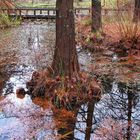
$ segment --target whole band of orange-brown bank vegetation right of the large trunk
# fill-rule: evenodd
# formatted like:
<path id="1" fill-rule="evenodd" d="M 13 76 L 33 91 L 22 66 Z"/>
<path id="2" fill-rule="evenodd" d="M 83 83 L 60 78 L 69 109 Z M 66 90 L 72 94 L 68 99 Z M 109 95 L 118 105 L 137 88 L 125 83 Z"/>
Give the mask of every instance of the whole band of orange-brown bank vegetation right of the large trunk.
<path id="1" fill-rule="evenodd" d="M 119 22 L 105 23 L 102 32 L 92 33 L 91 25 L 85 24 L 89 17 L 77 21 L 77 42 L 90 51 L 111 50 L 127 55 L 140 55 L 139 23 L 122 19 Z M 84 23 L 84 24 L 83 24 Z"/>

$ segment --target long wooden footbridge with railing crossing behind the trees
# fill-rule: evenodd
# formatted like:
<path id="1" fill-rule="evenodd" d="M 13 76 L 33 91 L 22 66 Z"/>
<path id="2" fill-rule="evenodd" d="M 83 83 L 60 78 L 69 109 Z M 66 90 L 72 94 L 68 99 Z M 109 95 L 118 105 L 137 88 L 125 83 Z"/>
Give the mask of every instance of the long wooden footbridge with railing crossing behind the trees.
<path id="1" fill-rule="evenodd" d="M 103 15 L 108 15 L 110 12 L 128 11 L 128 9 L 102 9 Z M 56 16 L 55 8 L 14 8 L 0 9 L 0 13 L 6 13 L 9 16 L 18 16 L 22 18 L 48 18 L 54 19 Z M 91 8 L 75 8 L 75 15 L 88 15 L 91 13 Z"/>

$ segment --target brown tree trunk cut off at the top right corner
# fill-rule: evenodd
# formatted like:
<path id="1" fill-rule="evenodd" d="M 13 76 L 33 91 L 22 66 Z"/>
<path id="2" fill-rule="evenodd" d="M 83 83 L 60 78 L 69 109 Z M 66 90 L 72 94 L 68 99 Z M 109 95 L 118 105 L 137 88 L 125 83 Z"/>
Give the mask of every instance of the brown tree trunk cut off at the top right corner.
<path id="1" fill-rule="evenodd" d="M 140 0 L 135 0 L 134 22 L 140 20 Z"/>

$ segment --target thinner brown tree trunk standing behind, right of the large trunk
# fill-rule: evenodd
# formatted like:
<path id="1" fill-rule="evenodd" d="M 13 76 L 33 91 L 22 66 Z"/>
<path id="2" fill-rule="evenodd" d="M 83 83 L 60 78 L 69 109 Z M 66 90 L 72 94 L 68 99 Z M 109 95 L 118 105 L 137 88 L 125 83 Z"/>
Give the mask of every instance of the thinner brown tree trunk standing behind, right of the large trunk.
<path id="1" fill-rule="evenodd" d="M 92 31 L 96 32 L 102 27 L 101 0 L 92 0 Z"/>

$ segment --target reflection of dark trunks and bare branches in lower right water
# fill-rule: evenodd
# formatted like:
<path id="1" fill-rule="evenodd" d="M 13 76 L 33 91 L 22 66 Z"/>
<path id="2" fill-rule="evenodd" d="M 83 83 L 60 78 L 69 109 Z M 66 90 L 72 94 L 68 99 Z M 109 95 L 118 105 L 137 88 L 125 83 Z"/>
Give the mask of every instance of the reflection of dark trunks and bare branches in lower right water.
<path id="1" fill-rule="evenodd" d="M 79 109 L 75 140 L 136 139 L 140 132 L 139 85 L 113 82 L 106 86 L 98 103 L 90 101 Z"/>

